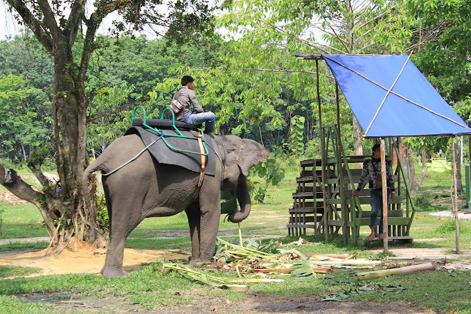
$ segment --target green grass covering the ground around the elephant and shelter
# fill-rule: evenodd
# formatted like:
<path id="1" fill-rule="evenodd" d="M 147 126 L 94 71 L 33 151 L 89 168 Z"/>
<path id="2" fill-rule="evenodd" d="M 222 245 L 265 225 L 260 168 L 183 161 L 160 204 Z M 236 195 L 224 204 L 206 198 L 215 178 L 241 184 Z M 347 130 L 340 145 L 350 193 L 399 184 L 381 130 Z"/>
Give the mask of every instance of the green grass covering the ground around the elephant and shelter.
<path id="1" fill-rule="evenodd" d="M 454 220 L 439 220 L 440 217 L 430 216 L 430 213 L 443 210 L 432 204 L 433 195 L 428 191 L 450 189 L 445 184 L 450 177 L 445 172 L 430 171 L 430 180 L 426 181 L 421 196 L 416 198 L 416 218 L 411 227 L 411 236 L 414 236 L 413 245 L 390 243 L 389 247 L 437 247 L 452 252 L 454 250 Z M 285 180 L 276 188 L 270 187 L 265 204 L 253 207 L 251 215 L 240 224 L 242 235 L 267 236 L 263 243 L 279 241 L 289 243 L 299 237 L 288 237 L 285 227 L 288 219 L 287 209 L 292 206 L 292 193 L 296 189 L 296 172 L 286 174 Z M 437 180 L 437 178 L 439 180 Z M 443 179 L 443 180 L 442 180 Z M 435 185 L 431 184 L 436 180 Z M 47 236 L 39 211 L 33 205 L 1 205 L 3 212 L 3 236 L 0 238 L 24 238 L 30 236 Z M 460 220 L 460 247 L 461 250 L 471 250 L 471 221 Z M 181 234 L 178 238 L 159 238 L 168 232 Z M 310 234 L 312 234 L 311 231 Z M 368 227 L 362 227 L 361 232 L 368 232 Z M 134 249 L 183 249 L 190 250 L 188 236 L 188 222 L 184 213 L 166 218 L 147 218 L 130 234 L 126 247 Z M 238 239 L 238 225 L 220 220 L 220 237 L 229 240 Z M 358 245 L 343 245 L 341 236 L 326 243 L 321 234 L 317 239 L 305 236 L 309 245 L 296 247 L 307 254 L 353 254 L 359 252 L 360 258 L 382 259 L 384 254 L 369 252 L 370 247 L 381 248 L 382 243 L 370 243 L 368 247 Z M 420 241 L 420 239 L 443 238 L 441 241 Z M 30 244 L 0 245 L 0 250 L 20 250 Z M 46 247 L 47 243 L 36 243 L 37 248 Z M 391 255 L 391 254 L 389 254 Z M 456 256 L 459 258 L 459 256 Z M 459 259 L 470 263 L 470 259 Z M 234 293 L 226 290 L 214 290 L 203 286 L 181 274 L 170 272 L 160 273 L 159 263 L 150 263 L 143 270 L 132 272 L 130 277 L 118 279 L 105 279 L 95 274 L 64 274 L 54 276 L 27 277 L 26 274 L 36 272 L 31 268 L 17 266 L 0 267 L 0 308 L 5 313 L 55 313 L 53 304 L 48 302 L 28 303 L 21 302 L 14 295 L 27 293 L 58 293 L 66 292 L 94 297 L 125 297 L 130 304 L 152 311 L 157 306 L 170 304 L 189 304 L 193 300 L 215 299 L 219 302 L 238 302 L 249 295 L 268 294 L 278 297 L 310 297 L 341 293 L 348 288 L 362 286 L 365 283 L 358 281 L 355 272 L 359 270 L 335 270 L 332 274 L 318 275 L 316 278 L 298 279 L 290 276 L 280 277 L 284 283 L 249 284 L 247 294 Z M 209 272 L 209 270 L 208 270 Z M 235 276 L 236 274 L 220 274 L 221 276 Z M 16 277 L 5 279 L 6 277 Z M 373 281 L 372 281 L 373 282 Z M 375 279 L 378 284 L 398 284 L 405 290 L 399 293 L 373 293 L 353 297 L 352 301 L 390 302 L 404 300 L 413 302 L 424 308 L 432 308 L 440 313 L 470 314 L 471 293 L 470 272 L 452 272 L 436 270 L 434 272 L 420 272 L 398 276 Z"/>

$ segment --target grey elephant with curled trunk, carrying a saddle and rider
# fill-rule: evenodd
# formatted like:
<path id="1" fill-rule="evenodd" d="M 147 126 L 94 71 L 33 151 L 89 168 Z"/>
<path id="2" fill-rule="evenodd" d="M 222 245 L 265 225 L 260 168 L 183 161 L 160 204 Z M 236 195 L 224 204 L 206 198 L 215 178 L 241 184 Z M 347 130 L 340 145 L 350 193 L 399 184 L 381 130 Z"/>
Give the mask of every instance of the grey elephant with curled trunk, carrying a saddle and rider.
<path id="1" fill-rule="evenodd" d="M 240 223 L 249 216 L 251 202 L 247 174 L 252 166 L 266 160 L 269 152 L 256 141 L 240 139 L 236 135 L 205 134 L 205 137 L 211 137 L 213 149 L 221 161 L 215 161 L 214 176 L 204 174 L 199 191 L 199 173 L 181 166 L 157 163 L 136 134 L 113 141 L 87 167 L 82 176 L 82 188 L 90 211 L 90 234 L 94 242 L 96 229 L 88 195 L 89 175 L 95 171 L 114 171 L 144 150 L 123 168 L 103 176 L 109 215 L 109 243 L 101 270 L 104 277 L 129 276 L 123 270 L 125 240 L 144 218 L 172 216 L 185 211 L 192 247 L 190 264 L 194 264 L 210 261 L 215 252 L 221 191 L 229 191 L 240 205 L 240 209 L 229 216 L 229 221 Z"/>

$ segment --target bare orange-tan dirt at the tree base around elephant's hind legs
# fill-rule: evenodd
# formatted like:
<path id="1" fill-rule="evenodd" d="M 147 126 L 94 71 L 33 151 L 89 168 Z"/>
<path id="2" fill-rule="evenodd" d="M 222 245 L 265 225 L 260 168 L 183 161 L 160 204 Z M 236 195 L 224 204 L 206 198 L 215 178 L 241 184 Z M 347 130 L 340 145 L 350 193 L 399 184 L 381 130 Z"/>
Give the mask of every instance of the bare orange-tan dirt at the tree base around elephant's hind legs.
<path id="1" fill-rule="evenodd" d="M 52 259 L 44 257 L 46 250 L 22 253 L 4 252 L 0 254 L 0 265 L 34 267 L 42 270 L 28 277 L 69 273 L 100 274 L 101 268 L 105 265 L 106 250 L 91 247 L 86 242 L 77 243 L 77 245 L 71 242 L 69 247 Z M 132 272 L 143 268 L 142 263 L 163 259 L 188 259 L 188 255 L 166 250 L 125 249 L 123 266 L 125 271 Z"/>

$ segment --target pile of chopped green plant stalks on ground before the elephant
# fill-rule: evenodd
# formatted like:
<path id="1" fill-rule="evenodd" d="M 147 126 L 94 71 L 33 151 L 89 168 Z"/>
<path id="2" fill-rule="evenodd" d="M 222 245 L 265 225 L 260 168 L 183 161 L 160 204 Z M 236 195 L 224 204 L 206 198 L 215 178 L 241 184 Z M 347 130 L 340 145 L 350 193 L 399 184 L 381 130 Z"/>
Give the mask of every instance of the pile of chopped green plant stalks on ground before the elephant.
<path id="1" fill-rule="evenodd" d="M 305 240 L 299 239 L 296 244 Z M 209 286 L 246 292 L 248 282 L 283 282 L 283 279 L 271 279 L 269 275 L 291 275 L 294 277 L 316 277 L 316 274 L 328 274 L 335 268 L 371 268 L 381 261 L 357 259 L 357 254 L 305 254 L 296 248 L 280 245 L 278 242 L 263 245 L 254 240 L 229 243 L 221 238 L 216 241 L 215 263 L 190 268 L 181 263 L 163 263 L 163 272 L 177 271 L 190 279 Z M 217 268 L 222 272 L 236 272 L 237 277 L 217 277 L 206 274 L 198 268 Z"/>

